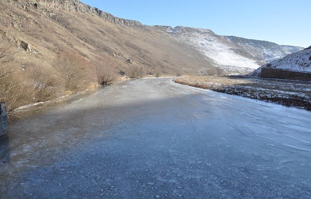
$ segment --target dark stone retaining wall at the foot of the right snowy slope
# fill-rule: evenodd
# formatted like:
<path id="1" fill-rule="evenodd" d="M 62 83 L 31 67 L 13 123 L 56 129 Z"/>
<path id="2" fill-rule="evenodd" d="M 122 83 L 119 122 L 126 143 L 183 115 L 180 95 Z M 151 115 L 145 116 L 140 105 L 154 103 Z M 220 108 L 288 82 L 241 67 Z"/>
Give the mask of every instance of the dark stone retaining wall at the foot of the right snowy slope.
<path id="1" fill-rule="evenodd" d="M 287 71 L 274 68 L 262 68 L 260 77 L 283 80 L 311 81 L 311 73 Z"/>

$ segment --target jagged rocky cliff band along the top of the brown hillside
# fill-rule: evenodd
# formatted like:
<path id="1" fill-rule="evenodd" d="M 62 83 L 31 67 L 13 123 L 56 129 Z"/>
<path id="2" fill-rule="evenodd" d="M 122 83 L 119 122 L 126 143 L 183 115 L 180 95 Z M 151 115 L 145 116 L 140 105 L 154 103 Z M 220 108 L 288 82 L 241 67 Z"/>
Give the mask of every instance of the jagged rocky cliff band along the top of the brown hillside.
<path id="1" fill-rule="evenodd" d="M 115 17 L 112 14 L 104 12 L 96 7 L 87 5 L 80 0 L 15 0 L 14 3 L 19 4 L 19 6 L 24 7 L 24 9 L 27 9 L 27 7 L 40 8 L 40 5 L 45 5 L 58 10 L 96 15 L 114 24 L 142 26 L 139 21 Z"/>

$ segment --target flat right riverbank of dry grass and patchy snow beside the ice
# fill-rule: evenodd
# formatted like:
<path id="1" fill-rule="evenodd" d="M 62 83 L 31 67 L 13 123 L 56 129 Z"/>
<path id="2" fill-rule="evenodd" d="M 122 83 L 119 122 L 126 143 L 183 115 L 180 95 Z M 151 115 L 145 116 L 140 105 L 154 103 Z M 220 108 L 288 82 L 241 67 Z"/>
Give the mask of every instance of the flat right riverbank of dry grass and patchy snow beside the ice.
<path id="1" fill-rule="evenodd" d="M 241 76 L 194 76 L 178 78 L 174 82 L 219 93 L 311 110 L 310 82 L 249 79 Z"/>

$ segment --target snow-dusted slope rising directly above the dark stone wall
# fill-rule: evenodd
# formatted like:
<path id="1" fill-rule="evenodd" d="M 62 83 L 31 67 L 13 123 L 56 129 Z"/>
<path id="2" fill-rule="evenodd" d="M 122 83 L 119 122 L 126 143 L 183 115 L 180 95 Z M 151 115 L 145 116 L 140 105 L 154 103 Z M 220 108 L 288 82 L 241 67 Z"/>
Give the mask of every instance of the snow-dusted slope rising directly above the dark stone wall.
<path id="1" fill-rule="evenodd" d="M 311 73 L 311 46 L 305 50 L 287 55 L 282 59 L 266 64 L 250 73 L 248 76 L 260 77 L 260 73 L 263 68 Z"/>

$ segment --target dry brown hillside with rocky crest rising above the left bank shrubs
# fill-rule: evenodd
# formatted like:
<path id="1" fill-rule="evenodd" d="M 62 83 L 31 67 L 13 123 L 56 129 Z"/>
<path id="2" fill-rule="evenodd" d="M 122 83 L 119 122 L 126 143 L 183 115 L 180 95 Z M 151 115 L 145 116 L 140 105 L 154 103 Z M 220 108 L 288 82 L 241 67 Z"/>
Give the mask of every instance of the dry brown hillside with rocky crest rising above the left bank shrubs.
<path id="1" fill-rule="evenodd" d="M 177 75 L 211 68 L 207 58 L 164 31 L 77 0 L 0 0 L 0 30 L 18 47 L 20 65 L 51 67 L 58 53 L 71 51 L 89 61 L 112 59 L 121 71 L 141 66 L 146 74 L 157 68 Z"/>

